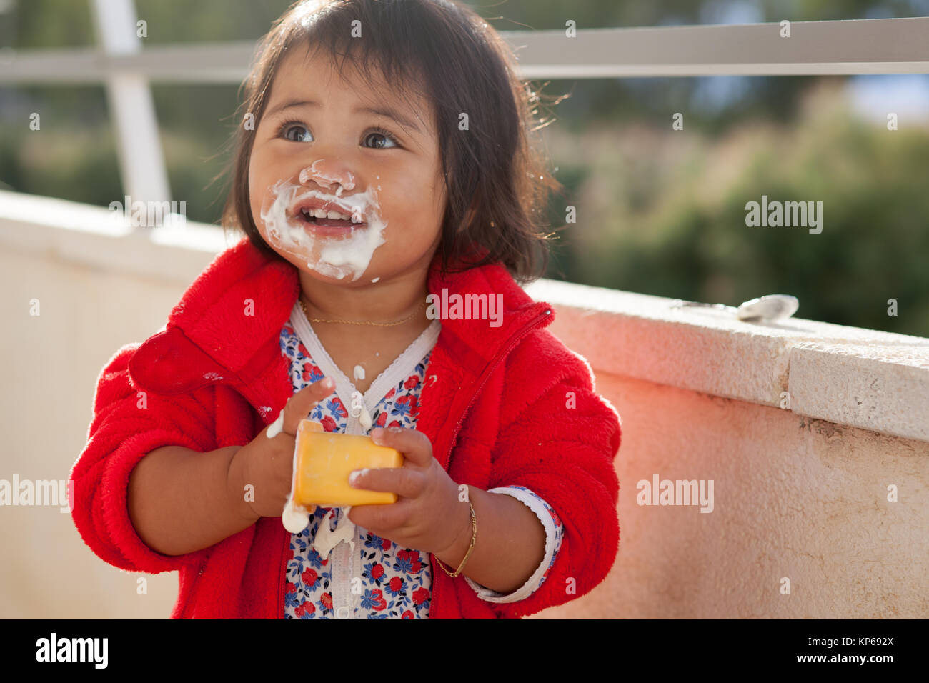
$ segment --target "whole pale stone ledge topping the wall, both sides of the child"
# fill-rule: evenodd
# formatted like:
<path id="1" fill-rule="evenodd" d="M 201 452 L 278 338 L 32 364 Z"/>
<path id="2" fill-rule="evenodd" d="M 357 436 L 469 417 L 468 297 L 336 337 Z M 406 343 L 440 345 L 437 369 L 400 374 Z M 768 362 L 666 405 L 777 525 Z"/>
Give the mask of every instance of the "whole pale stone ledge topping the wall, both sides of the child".
<path id="1" fill-rule="evenodd" d="M 186 287 L 230 243 L 217 226 L 130 228 L 103 207 L 0 191 L 0 244 Z M 556 307 L 552 331 L 597 373 L 929 441 L 929 339 L 798 318 L 741 322 L 731 309 L 570 282 L 526 291 Z"/>

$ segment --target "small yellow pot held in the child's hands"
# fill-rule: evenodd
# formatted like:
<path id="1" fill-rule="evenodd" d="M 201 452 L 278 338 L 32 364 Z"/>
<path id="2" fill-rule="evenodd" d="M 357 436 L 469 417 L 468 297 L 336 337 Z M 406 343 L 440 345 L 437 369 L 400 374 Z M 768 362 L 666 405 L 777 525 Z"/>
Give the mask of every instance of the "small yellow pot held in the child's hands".
<path id="1" fill-rule="evenodd" d="M 403 466 L 399 451 L 371 437 L 327 432 L 319 422 L 301 420 L 296 432 L 294 504 L 370 506 L 397 502 L 397 494 L 353 489 L 348 475 L 364 467 Z"/>

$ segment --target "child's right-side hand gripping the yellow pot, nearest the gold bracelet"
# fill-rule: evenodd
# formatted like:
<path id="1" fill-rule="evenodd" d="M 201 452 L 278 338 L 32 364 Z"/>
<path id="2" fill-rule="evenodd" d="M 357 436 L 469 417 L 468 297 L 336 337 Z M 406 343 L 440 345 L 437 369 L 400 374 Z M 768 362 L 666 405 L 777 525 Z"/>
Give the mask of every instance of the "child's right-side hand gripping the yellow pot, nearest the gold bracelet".
<path id="1" fill-rule="evenodd" d="M 458 500 L 458 484 L 433 457 L 423 432 L 378 427 L 371 437 L 377 445 L 402 453 L 403 466 L 355 470 L 348 484 L 399 498 L 389 505 L 352 506 L 348 519 L 401 547 L 441 554 L 462 532 L 464 519 L 470 519 L 470 508 Z"/>

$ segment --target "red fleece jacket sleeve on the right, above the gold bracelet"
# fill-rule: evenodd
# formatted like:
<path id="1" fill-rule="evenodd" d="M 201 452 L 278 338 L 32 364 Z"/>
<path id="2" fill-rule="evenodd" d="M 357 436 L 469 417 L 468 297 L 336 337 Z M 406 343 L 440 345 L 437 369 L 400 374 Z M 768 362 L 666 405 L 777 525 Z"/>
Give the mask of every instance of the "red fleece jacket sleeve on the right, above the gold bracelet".
<path id="1" fill-rule="evenodd" d="M 620 542 L 613 464 L 620 416 L 595 392 L 587 361 L 555 337 L 541 336 L 547 343 L 520 354 L 507 372 L 491 487 L 530 489 L 555 510 L 564 532 L 544 583 L 528 598 L 494 605 L 504 618 L 588 593 L 606 578 Z"/>

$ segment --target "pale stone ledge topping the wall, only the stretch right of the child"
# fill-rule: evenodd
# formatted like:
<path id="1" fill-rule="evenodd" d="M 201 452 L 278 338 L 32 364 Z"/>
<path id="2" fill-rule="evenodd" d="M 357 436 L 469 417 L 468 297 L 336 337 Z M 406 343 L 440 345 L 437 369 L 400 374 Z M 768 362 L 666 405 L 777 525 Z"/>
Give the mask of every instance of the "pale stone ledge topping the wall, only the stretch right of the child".
<path id="1" fill-rule="evenodd" d="M 731 310 L 570 282 L 526 291 L 556 307 L 553 333 L 595 370 L 929 441 L 929 339 L 799 318 L 742 322 Z"/>

